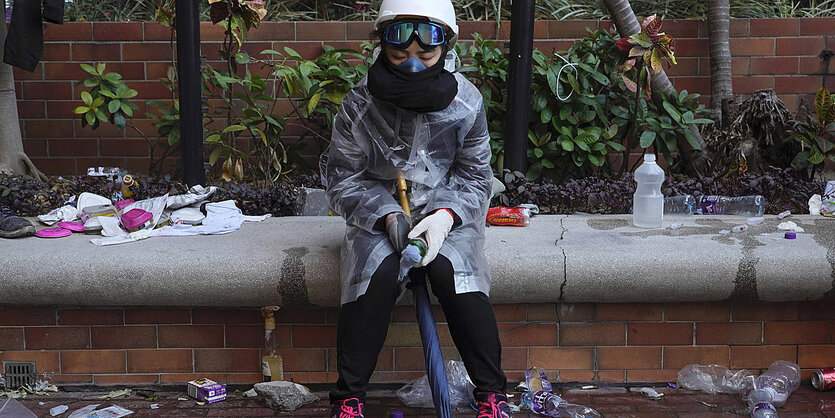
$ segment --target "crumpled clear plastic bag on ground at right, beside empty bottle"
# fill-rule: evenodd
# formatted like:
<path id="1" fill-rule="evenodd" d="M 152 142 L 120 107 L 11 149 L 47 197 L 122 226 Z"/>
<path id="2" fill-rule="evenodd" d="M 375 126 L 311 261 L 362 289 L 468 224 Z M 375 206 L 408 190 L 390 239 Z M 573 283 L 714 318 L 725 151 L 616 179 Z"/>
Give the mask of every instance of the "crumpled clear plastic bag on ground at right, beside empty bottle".
<path id="1" fill-rule="evenodd" d="M 748 370 L 732 372 L 718 364 L 690 364 L 678 372 L 678 387 L 707 393 L 747 395 L 754 387 L 754 375 Z"/>

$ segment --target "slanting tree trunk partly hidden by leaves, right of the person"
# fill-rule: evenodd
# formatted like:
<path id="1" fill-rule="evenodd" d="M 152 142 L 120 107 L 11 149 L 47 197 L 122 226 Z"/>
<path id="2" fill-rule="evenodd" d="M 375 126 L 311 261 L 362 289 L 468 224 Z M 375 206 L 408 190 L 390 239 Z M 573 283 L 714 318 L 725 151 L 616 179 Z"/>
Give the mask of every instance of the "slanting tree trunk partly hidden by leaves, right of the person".
<path id="1" fill-rule="evenodd" d="M 629 0 L 603 0 L 603 2 L 606 4 L 606 8 L 609 10 L 609 15 L 612 17 L 612 22 L 614 22 L 615 28 L 618 30 L 618 34 L 620 34 L 621 37 L 626 38 L 641 31 L 641 24 L 638 23 L 638 18 L 635 17 L 635 12 L 632 11 L 632 6 L 629 4 Z M 651 88 L 652 101 L 658 109 L 664 108 L 664 98 L 661 96 L 662 93 L 666 93 L 668 95 L 675 93 L 675 88 L 673 88 L 673 84 L 670 82 L 670 79 L 667 78 L 667 73 L 665 73 L 664 70 L 661 70 L 660 73 L 652 76 Z M 701 149 L 704 149 L 705 142 L 704 139 L 702 139 L 702 135 L 699 133 L 698 129 L 692 129 L 696 142 L 698 142 Z M 702 173 L 707 170 L 707 158 L 701 149 L 693 149 L 690 146 L 690 143 L 687 142 L 684 135 L 677 136 L 676 144 L 681 157 L 686 162 L 686 165 L 684 166 L 685 169 L 689 171 L 690 175 L 701 177 Z"/>

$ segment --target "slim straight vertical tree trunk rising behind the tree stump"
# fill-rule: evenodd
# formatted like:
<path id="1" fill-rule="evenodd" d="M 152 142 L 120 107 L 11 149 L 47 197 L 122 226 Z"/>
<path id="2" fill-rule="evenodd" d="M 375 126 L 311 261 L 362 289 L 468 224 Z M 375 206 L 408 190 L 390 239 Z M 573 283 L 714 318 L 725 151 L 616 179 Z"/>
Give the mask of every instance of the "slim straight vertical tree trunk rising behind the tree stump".
<path id="1" fill-rule="evenodd" d="M 728 0 L 710 0 L 707 11 L 708 39 L 710 41 L 710 107 L 714 120 L 724 120 L 722 101 L 733 98 L 731 84 L 731 49 L 728 44 L 728 28 L 731 25 Z"/>

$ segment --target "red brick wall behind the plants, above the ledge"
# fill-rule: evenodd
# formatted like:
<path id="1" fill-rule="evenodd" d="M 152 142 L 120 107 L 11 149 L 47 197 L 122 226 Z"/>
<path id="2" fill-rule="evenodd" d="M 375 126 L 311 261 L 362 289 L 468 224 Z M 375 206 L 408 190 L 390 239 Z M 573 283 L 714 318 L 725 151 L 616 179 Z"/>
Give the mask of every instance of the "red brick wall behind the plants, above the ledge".
<path id="1" fill-rule="evenodd" d="M 586 27 L 609 28 L 609 21 L 537 21 L 535 41 L 543 50 L 565 50 L 586 35 Z M 813 94 L 826 83 L 835 90 L 835 64 L 822 67 L 818 55 L 835 50 L 835 18 L 735 19 L 731 23 L 734 92 L 750 94 L 774 88 L 794 110 L 798 100 Z M 507 39 L 510 24 L 503 22 L 462 22 L 461 39 L 471 40 L 478 32 L 487 38 Z M 668 71 L 678 89 L 710 93 L 710 65 L 707 25 L 697 20 L 665 21 L 664 30 L 676 39 L 679 65 Z M 290 46 L 306 58 L 321 51 L 322 43 L 335 47 L 356 47 L 368 40 L 370 22 L 268 22 L 253 30 L 246 50 L 282 50 Z M 144 116 L 145 100 L 170 100 L 168 91 L 156 80 L 164 77 L 173 51 L 170 31 L 156 23 L 68 23 L 46 25 L 43 61 L 34 73 L 15 69 L 18 110 L 24 148 L 39 168 L 49 174 L 86 172 L 94 165 L 115 165 L 143 173 L 148 170 L 148 144 L 133 132 L 112 126 L 92 131 L 82 128 L 72 109 L 79 104 L 81 87 L 74 82 L 87 75 L 80 63 L 106 62 L 139 91 L 142 105 L 137 125 L 154 133 Z M 219 64 L 217 50 L 222 30 L 201 24 L 202 53 L 210 63 Z M 825 80 L 825 81 L 824 81 Z M 709 101 L 705 101 L 709 103 Z M 286 103 L 285 103 L 286 104 Z M 287 110 L 287 106 L 283 106 Z M 288 135 L 298 134 L 292 128 Z"/>

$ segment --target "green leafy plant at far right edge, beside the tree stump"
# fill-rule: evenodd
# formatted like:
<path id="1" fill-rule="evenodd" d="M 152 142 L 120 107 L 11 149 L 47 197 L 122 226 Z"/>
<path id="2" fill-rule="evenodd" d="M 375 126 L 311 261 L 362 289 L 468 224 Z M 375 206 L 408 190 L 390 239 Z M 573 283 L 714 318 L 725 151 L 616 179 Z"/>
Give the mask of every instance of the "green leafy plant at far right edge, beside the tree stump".
<path id="1" fill-rule="evenodd" d="M 814 106 L 813 113 L 804 103 L 795 128 L 788 131 L 802 147 L 792 166 L 805 170 L 811 165 L 813 172 L 824 159 L 835 161 L 835 96 L 821 87 L 815 94 Z"/>

